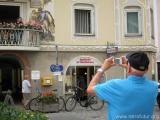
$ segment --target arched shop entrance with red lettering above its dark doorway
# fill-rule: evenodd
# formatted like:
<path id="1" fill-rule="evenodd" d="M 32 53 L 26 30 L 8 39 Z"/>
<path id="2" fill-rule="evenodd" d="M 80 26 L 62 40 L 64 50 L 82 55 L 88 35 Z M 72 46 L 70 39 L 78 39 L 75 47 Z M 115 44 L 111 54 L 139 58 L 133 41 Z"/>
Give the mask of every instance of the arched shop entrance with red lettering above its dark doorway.
<path id="1" fill-rule="evenodd" d="M 86 90 L 100 65 L 100 61 L 91 56 L 78 56 L 74 58 L 66 70 L 63 82 L 65 94 L 73 94 L 75 86 Z"/>

